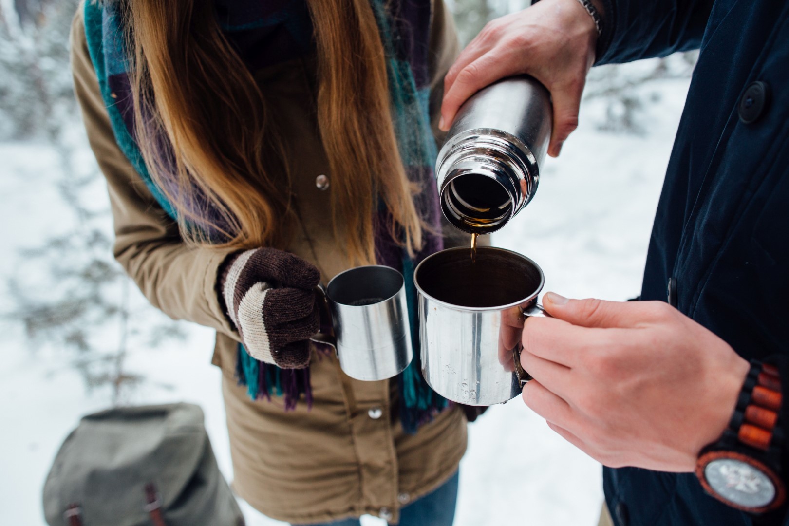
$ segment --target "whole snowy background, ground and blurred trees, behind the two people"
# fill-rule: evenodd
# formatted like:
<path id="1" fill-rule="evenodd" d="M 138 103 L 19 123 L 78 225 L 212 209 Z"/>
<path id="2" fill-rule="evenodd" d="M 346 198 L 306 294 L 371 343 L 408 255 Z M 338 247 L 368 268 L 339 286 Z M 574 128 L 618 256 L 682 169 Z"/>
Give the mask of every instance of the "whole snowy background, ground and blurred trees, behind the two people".
<path id="1" fill-rule="evenodd" d="M 464 39 L 518 2 L 454 2 Z M 73 2 L 0 0 L 0 520 L 43 526 L 40 493 L 81 415 L 189 401 L 232 479 L 211 330 L 148 307 L 110 257 L 110 217 L 70 91 Z M 535 259 L 567 297 L 638 295 L 694 57 L 593 70 L 581 125 L 544 163 L 495 245 Z M 593 526 L 600 464 L 518 398 L 469 427 L 458 526 Z M 282 524 L 244 507 L 248 524 Z M 365 526 L 383 524 L 372 517 Z"/>

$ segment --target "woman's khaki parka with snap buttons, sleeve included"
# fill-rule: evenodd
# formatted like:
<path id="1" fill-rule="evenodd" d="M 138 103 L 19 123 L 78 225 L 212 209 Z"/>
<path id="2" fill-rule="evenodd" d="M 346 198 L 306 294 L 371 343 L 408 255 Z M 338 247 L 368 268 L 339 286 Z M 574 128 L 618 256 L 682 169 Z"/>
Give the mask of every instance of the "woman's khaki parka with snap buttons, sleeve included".
<path id="1" fill-rule="evenodd" d="M 231 251 L 185 244 L 178 226 L 118 148 L 88 54 L 82 10 L 73 22 L 73 75 L 88 138 L 107 178 L 114 256 L 156 308 L 217 331 L 212 363 L 223 373 L 235 491 L 268 517 L 288 522 L 364 513 L 398 520 L 402 505 L 432 491 L 458 469 L 466 450 L 462 411 L 447 409 L 417 435 L 406 435 L 398 422 L 396 382 L 351 379 L 335 358 L 314 352 L 312 410 L 301 403 L 285 412 L 276 397 L 249 400 L 234 378 L 239 336 L 216 293 L 217 269 Z M 457 53 L 451 14 L 435 0 L 430 62 L 434 129 L 443 76 Z M 314 69 L 314 58 L 301 58 L 253 76 L 274 102 L 286 147 L 300 154 L 289 157 L 300 225 L 288 250 L 315 264 L 325 284 L 351 264 L 327 221 L 332 174 L 316 122 Z M 322 174 L 330 183 L 326 189 L 316 185 Z"/>

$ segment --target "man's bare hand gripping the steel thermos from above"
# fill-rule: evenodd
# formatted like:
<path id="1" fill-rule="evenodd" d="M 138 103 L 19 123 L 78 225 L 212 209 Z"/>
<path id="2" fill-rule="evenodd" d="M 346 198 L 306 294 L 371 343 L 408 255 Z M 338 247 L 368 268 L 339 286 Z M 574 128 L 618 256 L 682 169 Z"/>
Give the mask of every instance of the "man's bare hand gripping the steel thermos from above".
<path id="1" fill-rule="evenodd" d="M 528 73 L 553 99 L 548 155 L 556 157 L 578 126 L 586 73 L 594 63 L 597 32 L 578 0 L 542 0 L 489 22 L 444 78 L 439 128 L 449 129 L 471 95 L 506 76 Z"/>

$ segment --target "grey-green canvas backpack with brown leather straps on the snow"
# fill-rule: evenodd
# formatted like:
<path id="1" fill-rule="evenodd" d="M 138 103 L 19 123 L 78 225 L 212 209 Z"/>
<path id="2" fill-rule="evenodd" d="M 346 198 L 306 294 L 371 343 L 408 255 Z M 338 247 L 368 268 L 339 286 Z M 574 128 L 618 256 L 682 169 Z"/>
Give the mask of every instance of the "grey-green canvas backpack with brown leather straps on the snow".
<path id="1" fill-rule="evenodd" d="M 84 416 L 43 489 L 50 526 L 243 526 L 202 410 L 191 404 Z"/>

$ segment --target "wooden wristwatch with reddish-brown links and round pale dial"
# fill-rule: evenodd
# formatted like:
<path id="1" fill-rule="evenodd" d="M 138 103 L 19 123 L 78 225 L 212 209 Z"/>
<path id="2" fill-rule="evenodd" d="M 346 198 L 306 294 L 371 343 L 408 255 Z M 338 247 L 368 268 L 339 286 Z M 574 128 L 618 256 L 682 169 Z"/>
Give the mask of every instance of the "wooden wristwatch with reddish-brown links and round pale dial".
<path id="1" fill-rule="evenodd" d="M 765 513 L 783 504 L 783 433 L 776 425 L 780 405 L 778 369 L 751 360 L 726 431 L 701 450 L 696 461 L 696 476 L 712 497 L 750 513 Z"/>

